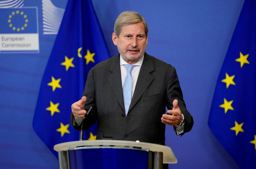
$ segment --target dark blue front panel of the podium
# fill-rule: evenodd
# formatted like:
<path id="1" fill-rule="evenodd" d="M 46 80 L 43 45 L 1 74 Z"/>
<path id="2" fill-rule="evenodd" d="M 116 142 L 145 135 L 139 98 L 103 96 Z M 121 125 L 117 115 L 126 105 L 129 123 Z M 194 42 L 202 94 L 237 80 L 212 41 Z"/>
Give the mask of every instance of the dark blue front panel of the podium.
<path id="1" fill-rule="evenodd" d="M 94 148 L 69 150 L 70 169 L 148 169 L 149 152 L 144 150 Z"/>

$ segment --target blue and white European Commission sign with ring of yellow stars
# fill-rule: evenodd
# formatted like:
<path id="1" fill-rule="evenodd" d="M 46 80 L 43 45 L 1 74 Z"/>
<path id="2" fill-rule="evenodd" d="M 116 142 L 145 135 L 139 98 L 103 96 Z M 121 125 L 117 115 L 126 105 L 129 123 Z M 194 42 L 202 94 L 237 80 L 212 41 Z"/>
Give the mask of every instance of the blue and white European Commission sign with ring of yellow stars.
<path id="1" fill-rule="evenodd" d="M 0 12 L 0 53 L 39 52 L 37 8 L 0 8 Z"/>

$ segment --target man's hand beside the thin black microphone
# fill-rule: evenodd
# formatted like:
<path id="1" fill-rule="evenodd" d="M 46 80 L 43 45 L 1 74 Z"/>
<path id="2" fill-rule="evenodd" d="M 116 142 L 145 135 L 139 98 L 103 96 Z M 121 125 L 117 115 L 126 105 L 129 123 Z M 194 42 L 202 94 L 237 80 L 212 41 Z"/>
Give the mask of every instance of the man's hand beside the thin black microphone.
<path id="1" fill-rule="evenodd" d="M 78 119 L 84 119 L 87 111 L 84 110 L 84 103 L 86 102 L 86 97 L 83 96 L 81 100 L 73 103 L 71 105 L 71 110 L 73 115 Z"/>

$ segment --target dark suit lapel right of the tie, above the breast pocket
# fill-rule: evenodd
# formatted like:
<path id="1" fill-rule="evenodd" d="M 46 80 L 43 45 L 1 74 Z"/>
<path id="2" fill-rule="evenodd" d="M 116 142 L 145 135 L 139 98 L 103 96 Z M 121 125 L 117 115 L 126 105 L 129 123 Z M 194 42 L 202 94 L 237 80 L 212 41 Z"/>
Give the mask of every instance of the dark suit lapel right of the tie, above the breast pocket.
<path id="1" fill-rule="evenodd" d="M 154 70 L 154 65 L 152 63 L 152 60 L 150 59 L 150 56 L 147 53 L 145 53 L 144 60 L 140 68 L 139 77 L 136 83 L 136 87 L 132 96 L 129 111 L 138 102 L 142 94 L 148 88 L 149 84 L 153 81 L 154 78 L 149 73 Z"/>

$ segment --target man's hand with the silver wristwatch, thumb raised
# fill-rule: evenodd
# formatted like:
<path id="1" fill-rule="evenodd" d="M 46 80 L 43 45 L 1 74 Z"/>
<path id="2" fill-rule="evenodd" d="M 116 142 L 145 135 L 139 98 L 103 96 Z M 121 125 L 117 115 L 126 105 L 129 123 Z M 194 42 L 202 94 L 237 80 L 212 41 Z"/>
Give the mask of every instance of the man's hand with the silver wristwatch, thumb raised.
<path id="1" fill-rule="evenodd" d="M 167 113 L 172 114 L 163 114 L 161 120 L 162 123 L 168 124 L 171 126 L 179 125 L 181 120 L 183 119 L 180 108 L 178 106 L 178 100 L 173 100 L 172 102 L 173 108 L 172 110 L 168 110 Z"/>

